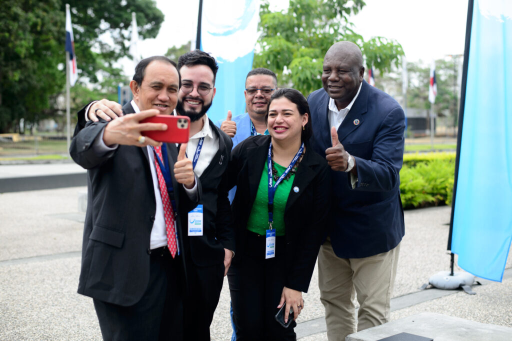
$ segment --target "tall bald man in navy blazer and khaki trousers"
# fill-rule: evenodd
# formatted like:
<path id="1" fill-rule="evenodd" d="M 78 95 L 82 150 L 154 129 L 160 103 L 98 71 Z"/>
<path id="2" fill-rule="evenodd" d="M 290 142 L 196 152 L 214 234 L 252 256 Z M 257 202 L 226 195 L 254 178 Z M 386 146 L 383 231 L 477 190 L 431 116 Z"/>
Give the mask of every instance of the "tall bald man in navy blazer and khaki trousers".
<path id="1" fill-rule="evenodd" d="M 363 79 L 362 62 L 355 44 L 337 42 L 324 58 L 323 89 L 308 97 L 314 148 L 332 174 L 331 223 L 318 255 L 329 340 L 388 322 L 404 235 L 404 113 Z"/>

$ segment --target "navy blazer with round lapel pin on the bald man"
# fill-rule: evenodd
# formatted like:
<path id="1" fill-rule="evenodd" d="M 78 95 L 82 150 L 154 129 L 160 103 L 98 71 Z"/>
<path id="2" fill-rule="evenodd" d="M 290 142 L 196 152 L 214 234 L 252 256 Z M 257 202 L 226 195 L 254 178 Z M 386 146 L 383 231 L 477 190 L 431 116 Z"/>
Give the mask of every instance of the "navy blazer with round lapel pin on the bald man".
<path id="1" fill-rule="evenodd" d="M 332 147 L 329 95 L 324 89 L 308 97 L 314 149 L 325 156 Z M 355 159 L 357 183 L 332 175 L 333 203 L 329 236 L 340 258 L 363 258 L 386 252 L 404 235 L 400 200 L 405 115 L 388 94 L 362 82 L 361 90 L 338 129 L 338 139 Z"/>

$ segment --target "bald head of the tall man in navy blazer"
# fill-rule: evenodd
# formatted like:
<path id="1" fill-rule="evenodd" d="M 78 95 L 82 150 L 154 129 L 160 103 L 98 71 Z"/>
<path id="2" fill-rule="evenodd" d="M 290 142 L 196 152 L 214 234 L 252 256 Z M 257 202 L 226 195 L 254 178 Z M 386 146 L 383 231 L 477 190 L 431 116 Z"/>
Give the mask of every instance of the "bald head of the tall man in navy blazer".
<path id="1" fill-rule="evenodd" d="M 362 53 L 350 41 L 338 41 L 324 57 L 322 84 L 338 109 L 344 109 L 357 94 L 365 68 Z"/>

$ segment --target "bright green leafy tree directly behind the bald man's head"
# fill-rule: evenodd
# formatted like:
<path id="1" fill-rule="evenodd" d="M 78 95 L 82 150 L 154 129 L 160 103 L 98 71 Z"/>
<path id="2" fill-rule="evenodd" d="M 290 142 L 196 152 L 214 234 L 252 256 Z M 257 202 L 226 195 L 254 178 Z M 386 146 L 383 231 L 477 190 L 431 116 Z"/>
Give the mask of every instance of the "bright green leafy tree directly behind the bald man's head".
<path id="1" fill-rule="evenodd" d="M 389 70 L 398 65 L 401 46 L 383 37 L 364 41 L 348 21 L 364 6 L 362 0 L 290 0 L 286 12 L 271 12 L 265 1 L 260 9 L 260 52 L 254 55 L 253 67 L 274 71 L 282 85 L 307 95 L 322 87 L 320 75 L 329 47 L 350 40 L 361 48 L 367 65 Z"/>

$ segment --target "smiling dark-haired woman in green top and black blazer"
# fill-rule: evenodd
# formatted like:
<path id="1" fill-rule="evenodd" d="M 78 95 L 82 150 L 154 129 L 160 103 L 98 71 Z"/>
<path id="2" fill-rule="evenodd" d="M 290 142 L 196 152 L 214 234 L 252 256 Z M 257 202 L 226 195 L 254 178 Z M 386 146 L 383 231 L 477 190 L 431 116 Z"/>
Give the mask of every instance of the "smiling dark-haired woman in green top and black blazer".
<path id="1" fill-rule="evenodd" d="M 313 152 L 309 106 L 294 89 L 277 90 L 268 104 L 268 136 L 238 144 L 229 163 L 237 185 L 232 211 L 237 255 L 228 271 L 237 339 L 296 339 L 294 320 L 304 308 L 325 236 L 329 167 Z M 285 328 L 274 315 L 285 306 Z M 285 323 L 285 321 L 280 321 Z"/>

